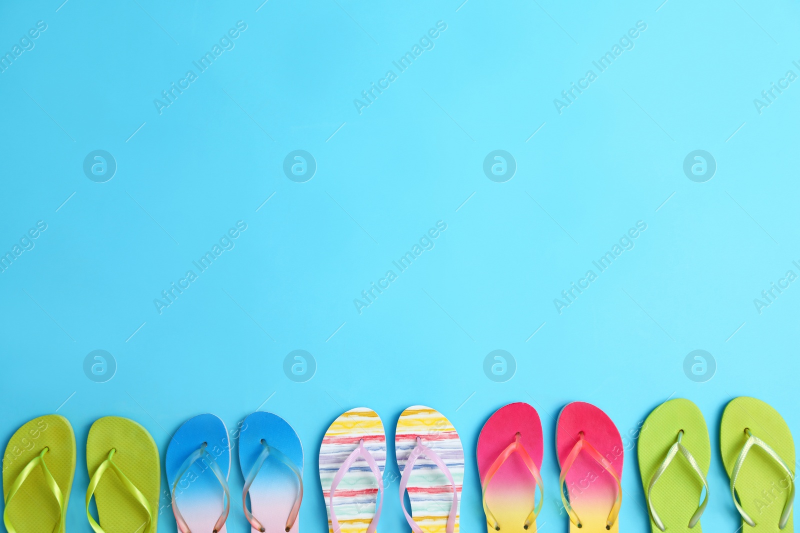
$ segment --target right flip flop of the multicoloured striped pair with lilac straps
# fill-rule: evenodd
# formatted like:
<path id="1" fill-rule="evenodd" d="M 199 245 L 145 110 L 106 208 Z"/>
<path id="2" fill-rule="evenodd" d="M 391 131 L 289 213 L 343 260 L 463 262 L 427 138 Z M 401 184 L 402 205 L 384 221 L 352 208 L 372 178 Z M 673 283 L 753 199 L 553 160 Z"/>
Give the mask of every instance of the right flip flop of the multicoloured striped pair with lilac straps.
<path id="1" fill-rule="evenodd" d="M 394 436 L 400 478 L 400 505 L 414 533 L 458 531 L 464 479 L 464 448 L 442 413 L 414 405 L 402 412 Z M 408 491 L 411 515 L 403 494 Z"/>

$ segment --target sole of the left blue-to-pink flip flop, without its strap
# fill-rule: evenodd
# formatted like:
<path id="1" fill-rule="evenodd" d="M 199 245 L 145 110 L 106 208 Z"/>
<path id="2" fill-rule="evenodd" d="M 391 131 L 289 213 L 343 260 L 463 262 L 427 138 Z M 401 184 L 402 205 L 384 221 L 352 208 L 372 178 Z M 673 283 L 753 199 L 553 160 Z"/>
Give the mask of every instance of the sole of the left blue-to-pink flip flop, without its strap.
<path id="1" fill-rule="evenodd" d="M 166 448 L 166 479 L 172 491 L 175 477 L 183 461 L 206 443 L 206 450 L 228 478 L 230 474 L 230 440 L 225 423 L 218 416 L 198 415 L 178 428 Z M 212 531 L 217 519 L 224 511 L 224 491 L 218 479 L 203 462 L 196 461 L 178 482 L 175 501 L 190 531 Z M 234 503 L 231 502 L 231 507 Z M 223 525 L 219 533 L 225 533 Z"/>

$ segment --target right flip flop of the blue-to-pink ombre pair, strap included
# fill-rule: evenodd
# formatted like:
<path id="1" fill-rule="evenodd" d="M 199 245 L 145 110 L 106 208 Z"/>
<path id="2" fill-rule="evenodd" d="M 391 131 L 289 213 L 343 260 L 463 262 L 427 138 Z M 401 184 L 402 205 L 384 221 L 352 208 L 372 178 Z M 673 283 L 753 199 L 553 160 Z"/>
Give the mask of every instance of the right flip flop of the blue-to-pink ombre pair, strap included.
<path id="1" fill-rule="evenodd" d="M 239 434 L 239 466 L 245 478 L 242 508 L 252 531 L 297 533 L 303 457 L 300 438 L 289 423 L 271 412 L 248 415 Z"/>

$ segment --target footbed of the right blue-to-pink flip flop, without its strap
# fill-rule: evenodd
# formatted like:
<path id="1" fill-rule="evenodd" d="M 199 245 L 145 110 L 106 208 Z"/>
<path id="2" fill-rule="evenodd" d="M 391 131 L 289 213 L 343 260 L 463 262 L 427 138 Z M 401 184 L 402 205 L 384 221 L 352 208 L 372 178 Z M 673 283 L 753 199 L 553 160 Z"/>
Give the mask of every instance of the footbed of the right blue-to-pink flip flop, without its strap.
<path id="1" fill-rule="evenodd" d="M 247 416 L 239 434 L 239 466 L 242 468 L 244 479 L 253 468 L 258 455 L 264 450 L 262 439 L 270 447 L 278 449 L 291 459 L 302 475 L 302 444 L 298 434 L 280 416 L 271 412 L 257 411 Z M 268 456 L 253 484 L 250 485 L 250 511 L 262 524 L 266 533 L 286 531 L 286 519 L 297 499 L 298 489 L 297 475 L 278 459 Z M 290 531 L 297 533 L 299 524 L 298 518 Z"/>

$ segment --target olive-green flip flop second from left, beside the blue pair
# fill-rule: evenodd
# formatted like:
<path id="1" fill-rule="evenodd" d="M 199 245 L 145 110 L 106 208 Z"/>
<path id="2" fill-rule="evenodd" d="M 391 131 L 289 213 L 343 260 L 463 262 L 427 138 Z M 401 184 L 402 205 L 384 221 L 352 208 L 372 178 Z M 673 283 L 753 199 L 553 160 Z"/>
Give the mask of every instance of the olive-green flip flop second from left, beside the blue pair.
<path id="1" fill-rule="evenodd" d="M 86 468 L 86 516 L 96 533 L 155 533 L 161 467 L 145 428 L 119 416 L 96 420 L 86 439 Z M 92 495 L 102 527 L 89 512 Z"/>

